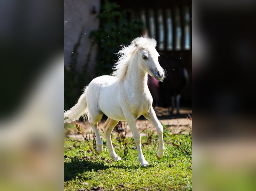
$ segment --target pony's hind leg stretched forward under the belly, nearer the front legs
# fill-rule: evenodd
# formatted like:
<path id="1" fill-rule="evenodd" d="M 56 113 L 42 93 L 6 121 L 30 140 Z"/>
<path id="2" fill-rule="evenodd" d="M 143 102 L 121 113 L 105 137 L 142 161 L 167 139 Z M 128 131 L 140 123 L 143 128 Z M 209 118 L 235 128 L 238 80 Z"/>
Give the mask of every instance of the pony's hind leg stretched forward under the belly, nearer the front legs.
<path id="1" fill-rule="evenodd" d="M 116 152 L 113 148 L 112 140 L 111 140 L 111 133 L 112 133 L 114 127 L 117 125 L 117 123 L 118 123 L 118 121 L 108 118 L 103 125 L 104 133 L 105 133 L 106 139 L 107 139 L 109 155 L 115 161 L 121 160 L 121 158 L 116 154 Z"/>

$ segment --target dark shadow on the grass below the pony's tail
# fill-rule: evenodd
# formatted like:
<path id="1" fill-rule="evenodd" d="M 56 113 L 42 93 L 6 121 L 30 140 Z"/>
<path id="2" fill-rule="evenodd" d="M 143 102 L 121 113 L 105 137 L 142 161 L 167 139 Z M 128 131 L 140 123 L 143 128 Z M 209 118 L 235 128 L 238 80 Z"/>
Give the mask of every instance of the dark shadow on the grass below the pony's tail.
<path id="1" fill-rule="evenodd" d="M 64 181 L 76 179 L 76 176 L 84 172 L 100 171 L 109 168 L 104 160 L 89 160 L 72 158 L 71 162 L 64 162 Z"/>

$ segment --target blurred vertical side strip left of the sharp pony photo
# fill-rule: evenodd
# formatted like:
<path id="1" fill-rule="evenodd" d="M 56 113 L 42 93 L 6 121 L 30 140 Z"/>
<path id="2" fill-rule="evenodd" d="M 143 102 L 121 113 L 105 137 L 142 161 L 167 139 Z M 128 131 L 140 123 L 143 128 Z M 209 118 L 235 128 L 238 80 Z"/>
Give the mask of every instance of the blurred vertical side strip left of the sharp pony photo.
<path id="1" fill-rule="evenodd" d="M 0 1 L 0 190 L 63 189 L 63 2 Z"/>

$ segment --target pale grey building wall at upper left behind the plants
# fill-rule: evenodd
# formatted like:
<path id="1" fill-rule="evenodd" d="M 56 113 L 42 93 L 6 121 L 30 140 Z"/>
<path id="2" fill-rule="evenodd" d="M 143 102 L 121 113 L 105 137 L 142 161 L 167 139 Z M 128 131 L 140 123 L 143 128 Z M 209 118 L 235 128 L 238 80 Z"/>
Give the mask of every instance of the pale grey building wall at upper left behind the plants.
<path id="1" fill-rule="evenodd" d="M 100 0 L 64 0 L 64 53 L 66 67 L 70 62 L 74 45 L 77 43 L 83 27 L 81 45 L 78 48 L 77 69 L 80 69 L 85 64 L 92 42 L 89 39 L 90 32 L 99 27 L 99 19 L 96 17 L 99 11 Z M 97 47 L 94 46 L 88 66 L 91 70 L 94 70 L 96 55 Z M 90 72 L 90 74 L 92 75 L 93 72 Z"/>

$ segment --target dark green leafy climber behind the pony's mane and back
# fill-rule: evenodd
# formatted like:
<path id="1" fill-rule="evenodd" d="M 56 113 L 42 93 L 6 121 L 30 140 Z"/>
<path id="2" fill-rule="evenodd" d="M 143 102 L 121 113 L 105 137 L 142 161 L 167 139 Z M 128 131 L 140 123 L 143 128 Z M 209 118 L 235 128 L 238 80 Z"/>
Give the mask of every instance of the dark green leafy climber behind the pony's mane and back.
<path id="1" fill-rule="evenodd" d="M 130 44 L 134 38 L 141 36 L 144 28 L 140 20 L 128 20 L 131 10 L 120 11 L 118 8 L 116 3 L 105 1 L 98 14 L 100 27 L 90 34 L 93 43 L 98 45 L 97 76 L 112 73 L 112 67 L 118 60 L 115 54 L 118 46 Z"/>

